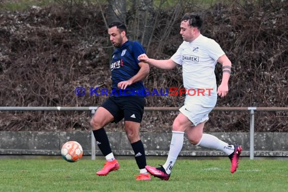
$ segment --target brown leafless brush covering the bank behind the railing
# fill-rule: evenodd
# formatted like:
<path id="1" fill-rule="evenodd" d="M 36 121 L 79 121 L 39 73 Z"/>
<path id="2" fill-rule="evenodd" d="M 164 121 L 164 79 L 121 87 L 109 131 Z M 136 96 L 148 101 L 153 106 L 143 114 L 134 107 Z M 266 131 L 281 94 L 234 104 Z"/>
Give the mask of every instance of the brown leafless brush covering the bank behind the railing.
<path id="1" fill-rule="evenodd" d="M 180 19 L 202 15 L 202 34 L 232 62 L 229 94 L 218 107 L 288 106 L 287 1 L 5 1 L 0 0 L 0 106 L 99 106 L 107 97 L 77 97 L 78 86 L 109 88 L 109 22 L 127 25 L 155 59 L 182 39 Z M 217 83 L 221 66 L 215 69 Z M 146 87 L 183 88 L 181 67 L 151 67 Z M 180 107 L 184 97 L 147 97 L 147 107 Z M 177 112 L 146 112 L 142 131 L 170 131 Z M 87 112 L 0 112 L 0 130 L 89 130 Z M 249 113 L 212 112 L 206 131 L 249 131 Z M 287 112 L 259 112 L 258 132 L 287 132 Z M 123 122 L 107 126 L 123 131 Z"/>

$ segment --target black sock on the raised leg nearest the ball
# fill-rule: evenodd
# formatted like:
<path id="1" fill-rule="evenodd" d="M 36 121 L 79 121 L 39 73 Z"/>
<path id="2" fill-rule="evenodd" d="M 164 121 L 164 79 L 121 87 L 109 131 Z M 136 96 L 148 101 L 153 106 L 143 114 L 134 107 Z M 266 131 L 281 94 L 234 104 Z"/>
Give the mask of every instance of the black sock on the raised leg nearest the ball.
<path id="1" fill-rule="evenodd" d="M 97 145 L 104 156 L 112 153 L 108 136 L 104 128 L 93 130 Z"/>

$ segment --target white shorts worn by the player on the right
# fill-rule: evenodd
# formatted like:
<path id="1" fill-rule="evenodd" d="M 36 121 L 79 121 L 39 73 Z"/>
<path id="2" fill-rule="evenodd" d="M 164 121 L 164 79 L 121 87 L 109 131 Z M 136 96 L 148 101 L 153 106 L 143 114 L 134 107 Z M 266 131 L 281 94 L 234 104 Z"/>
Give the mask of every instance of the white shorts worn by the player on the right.
<path id="1" fill-rule="evenodd" d="M 193 125 L 209 120 L 209 113 L 213 110 L 217 102 L 217 97 L 212 96 L 188 96 L 186 95 L 184 106 L 179 111 L 185 115 Z"/>

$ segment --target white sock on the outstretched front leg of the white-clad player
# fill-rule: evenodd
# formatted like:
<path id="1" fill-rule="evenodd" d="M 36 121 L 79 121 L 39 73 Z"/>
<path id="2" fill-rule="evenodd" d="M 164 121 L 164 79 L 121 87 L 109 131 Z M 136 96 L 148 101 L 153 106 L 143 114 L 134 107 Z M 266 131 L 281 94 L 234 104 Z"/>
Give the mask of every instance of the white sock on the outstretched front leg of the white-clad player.
<path id="1" fill-rule="evenodd" d="M 163 165 L 167 174 L 171 173 L 171 169 L 174 163 L 176 162 L 176 159 L 183 147 L 183 141 L 184 141 L 184 132 L 172 131 L 169 154 L 166 163 Z"/>

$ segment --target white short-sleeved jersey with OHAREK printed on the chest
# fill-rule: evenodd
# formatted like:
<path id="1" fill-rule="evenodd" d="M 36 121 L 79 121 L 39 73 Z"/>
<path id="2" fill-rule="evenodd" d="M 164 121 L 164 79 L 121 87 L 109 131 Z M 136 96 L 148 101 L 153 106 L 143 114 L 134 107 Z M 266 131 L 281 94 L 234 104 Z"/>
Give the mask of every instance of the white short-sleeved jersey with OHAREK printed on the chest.
<path id="1" fill-rule="evenodd" d="M 182 65 L 184 88 L 205 89 L 205 95 L 217 97 L 214 70 L 218 58 L 224 54 L 215 40 L 200 34 L 192 42 L 183 41 L 171 59 Z"/>

